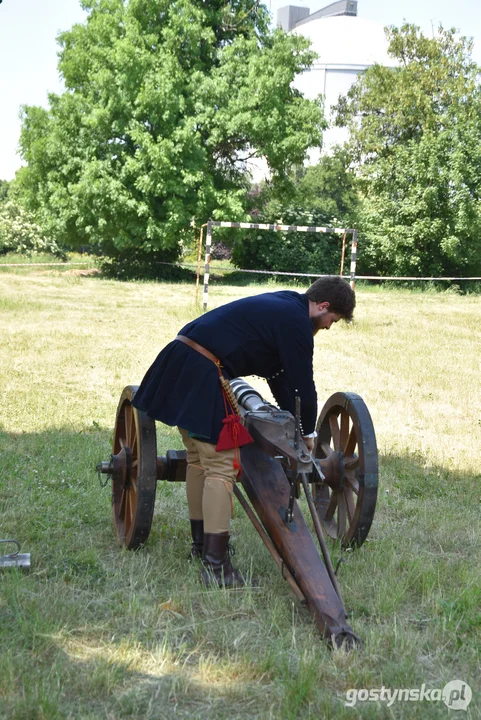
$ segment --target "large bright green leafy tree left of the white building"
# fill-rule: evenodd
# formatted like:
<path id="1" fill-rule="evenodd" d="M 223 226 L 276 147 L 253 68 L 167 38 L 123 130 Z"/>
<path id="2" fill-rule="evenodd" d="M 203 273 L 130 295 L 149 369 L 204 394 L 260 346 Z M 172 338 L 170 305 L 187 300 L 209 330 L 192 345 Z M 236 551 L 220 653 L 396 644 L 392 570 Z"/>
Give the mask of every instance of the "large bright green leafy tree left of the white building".
<path id="1" fill-rule="evenodd" d="M 292 87 L 313 54 L 253 0 L 84 0 L 60 35 L 66 92 L 25 107 L 25 202 L 50 235 L 175 256 L 191 226 L 242 217 L 254 153 L 275 179 L 323 127 Z"/>

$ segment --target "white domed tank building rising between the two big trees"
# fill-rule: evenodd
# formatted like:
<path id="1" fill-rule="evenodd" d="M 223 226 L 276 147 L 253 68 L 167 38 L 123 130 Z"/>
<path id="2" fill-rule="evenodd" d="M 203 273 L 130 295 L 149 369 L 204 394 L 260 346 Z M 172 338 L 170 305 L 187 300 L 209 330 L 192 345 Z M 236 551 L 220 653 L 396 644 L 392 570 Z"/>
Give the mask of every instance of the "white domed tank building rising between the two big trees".
<path id="1" fill-rule="evenodd" d="M 306 7 L 288 5 L 277 13 L 278 27 L 309 38 L 318 55 L 311 69 L 296 78 L 295 86 L 310 99 L 323 96 L 329 121 L 331 108 L 340 95 L 347 93 L 359 73 L 375 63 L 395 65 L 387 53 L 383 26 L 358 17 L 357 5 L 357 0 L 339 0 L 313 13 Z M 346 130 L 331 126 L 324 133 L 323 150 L 328 151 L 346 139 Z M 312 154 L 311 162 L 318 157 L 318 153 Z"/>

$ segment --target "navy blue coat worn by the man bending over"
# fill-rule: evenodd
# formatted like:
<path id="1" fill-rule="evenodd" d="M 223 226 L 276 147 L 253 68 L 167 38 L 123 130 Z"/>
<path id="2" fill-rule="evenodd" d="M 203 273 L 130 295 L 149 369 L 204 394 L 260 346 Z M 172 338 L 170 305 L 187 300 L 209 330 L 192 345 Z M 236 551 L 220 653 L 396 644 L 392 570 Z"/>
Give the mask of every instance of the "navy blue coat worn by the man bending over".
<path id="1" fill-rule="evenodd" d="M 246 375 L 266 378 L 281 409 L 294 414 L 299 395 L 303 433 L 314 430 L 314 338 L 306 295 L 281 291 L 236 300 L 201 315 L 179 335 L 218 357 L 230 380 Z M 149 368 L 134 405 L 214 444 L 225 417 L 215 364 L 178 340 L 169 343 Z"/>

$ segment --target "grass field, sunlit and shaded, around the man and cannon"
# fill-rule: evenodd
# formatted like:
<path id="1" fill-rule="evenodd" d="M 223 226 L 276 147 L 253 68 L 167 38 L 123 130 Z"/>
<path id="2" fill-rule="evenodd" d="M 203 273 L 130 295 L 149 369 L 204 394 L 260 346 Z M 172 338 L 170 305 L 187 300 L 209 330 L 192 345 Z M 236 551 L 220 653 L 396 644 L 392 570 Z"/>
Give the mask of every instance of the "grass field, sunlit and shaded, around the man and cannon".
<path id="1" fill-rule="evenodd" d="M 213 286 L 211 306 L 281 285 Z M 149 542 L 116 544 L 108 460 L 117 401 L 199 313 L 194 287 L 48 268 L 0 275 L 0 717 L 481 717 L 481 299 L 360 289 L 356 320 L 316 338 L 321 405 L 366 401 L 380 452 L 368 542 L 340 584 L 362 653 L 331 652 L 242 510 L 236 564 L 259 590 L 207 591 L 186 562 L 182 485 L 159 483 Z M 260 387 L 258 382 L 258 387 Z M 180 447 L 158 424 L 159 454 Z M 341 551 L 331 543 L 335 560 Z M 466 714 L 349 689 L 469 683 Z"/>

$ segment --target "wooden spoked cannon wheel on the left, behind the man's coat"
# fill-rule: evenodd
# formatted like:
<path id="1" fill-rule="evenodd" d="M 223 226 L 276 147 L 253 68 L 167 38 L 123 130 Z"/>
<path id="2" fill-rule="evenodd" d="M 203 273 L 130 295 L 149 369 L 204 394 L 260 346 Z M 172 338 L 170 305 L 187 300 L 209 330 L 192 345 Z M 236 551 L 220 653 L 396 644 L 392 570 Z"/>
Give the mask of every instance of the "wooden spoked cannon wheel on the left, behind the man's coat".
<path id="1" fill-rule="evenodd" d="M 132 405 L 137 386 L 120 396 L 109 472 L 119 542 L 136 550 L 149 537 L 157 485 L 155 420 Z"/>

